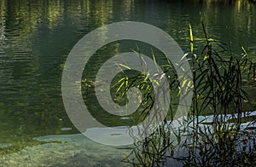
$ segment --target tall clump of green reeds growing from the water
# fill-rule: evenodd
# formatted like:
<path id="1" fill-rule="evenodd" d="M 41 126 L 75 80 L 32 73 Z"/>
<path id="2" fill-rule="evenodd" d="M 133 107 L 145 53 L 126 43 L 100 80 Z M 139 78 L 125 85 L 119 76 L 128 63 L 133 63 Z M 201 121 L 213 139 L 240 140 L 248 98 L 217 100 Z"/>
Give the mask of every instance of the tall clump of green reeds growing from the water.
<path id="1" fill-rule="evenodd" d="M 153 134 L 135 143 L 131 154 L 124 159 L 125 162 L 143 166 L 164 165 L 168 159 L 169 161 L 171 159 L 170 162 L 175 160 L 189 166 L 256 164 L 255 130 L 241 127 L 241 119 L 248 113 L 243 109 L 245 101 L 250 101 L 243 89 L 242 81 L 247 78 L 247 84 L 255 82 L 256 65 L 249 59 L 243 47 L 241 47 L 241 56 L 235 57 L 229 45 L 208 37 L 205 26 L 202 27 L 206 45 L 201 54 L 196 55 L 193 32 L 189 25 L 190 53 L 187 57 L 193 73 L 194 85 L 193 104 L 188 118 L 180 123 L 181 126 L 177 130 L 173 130 L 167 121 L 167 119 L 172 121 L 173 118 L 174 110 L 171 106 L 171 117 L 167 117 Z M 166 66 L 169 67 L 166 71 L 173 70 L 171 63 Z M 142 85 L 147 78 L 144 74 L 137 77 L 144 78 L 143 82 L 137 83 L 138 85 Z M 189 83 L 179 85 L 178 78 L 174 80 L 173 76 L 170 78 L 172 78 L 170 80 L 172 90 L 179 86 L 191 86 Z M 135 82 L 134 79 L 137 80 L 133 78 L 132 83 Z M 127 85 L 131 85 L 120 80 L 118 83 L 120 87 L 126 85 L 125 90 L 129 89 Z M 152 100 L 149 102 L 150 106 L 154 97 L 149 92 L 144 91 L 144 97 L 150 97 Z M 144 98 L 144 102 L 148 101 L 147 98 Z M 212 122 L 201 124 L 202 114 L 212 114 Z M 227 121 L 228 117 L 233 121 Z M 250 124 L 254 122 L 252 120 Z M 176 154 L 180 150 L 183 155 Z"/>

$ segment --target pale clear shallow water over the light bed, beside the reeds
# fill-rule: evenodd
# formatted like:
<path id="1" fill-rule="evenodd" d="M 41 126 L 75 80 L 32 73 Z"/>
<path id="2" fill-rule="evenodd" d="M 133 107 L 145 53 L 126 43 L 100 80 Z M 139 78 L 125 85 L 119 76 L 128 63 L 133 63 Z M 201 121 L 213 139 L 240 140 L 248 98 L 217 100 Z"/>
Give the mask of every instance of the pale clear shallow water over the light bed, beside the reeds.
<path id="1" fill-rule="evenodd" d="M 248 116 L 255 116 L 255 112 L 250 112 Z M 235 116 L 236 117 L 236 116 Z M 231 114 L 226 115 L 225 121 L 228 121 L 230 118 L 233 118 Z M 183 131 L 183 121 L 187 118 L 178 118 L 178 121 L 172 122 L 172 127 L 174 130 L 182 130 Z M 201 116 L 199 119 L 199 126 L 201 130 L 212 130 L 211 123 L 214 118 L 213 115 L 209 116 Z M 196 119 L 194 120 L 196 122 Z M 171 124 L 168 122 L 167 124 Z M 192 127 L 192 122 L 186 125 L 186 127 Z M 241 130 L 246 130 L 247 128 L 255 128 L 255 123 L 243 123 L 241 124 Z M 167 129 L 169 127 L 166 127 Z M 207 129 L 208 128 L 208 129 Z M 104 131 L 106 129 L 102 128 L 102 137 L 104 137 Z M 107 130 L 108 131 L 108 130 Z M 192 131 L 192 129 L 191 129 Z M 250 131 L 250 130 L 249 130 Z M 255 131 L 255 129 L 254 129 Z M 187 134 L 186 134 L 187 133 Z M 107 134 L 108 135 L 108 134 Z M 129 134 L 123 134 L 129 137 Z M 187 135 L 189 135 L 189 130 L 181 133 L 181 140 L 187 140 Z M 211 135 L 210 135 L 211 136 Z M 244 136 L 241 136 L 241 141 Z M 180 143 L 177 144 L 175 141 L 176 136 L 171 135 L 171 141 L 173 141 L 173 146 L 177 148 L 177 151 L 174 154 L 174 157 L 185 156 L 185 152 L 182 147 L 180 147 Z M 44 141 L 45 143 L 42 145 L 34 146 L 34 147 L 25 147 L 20 152 L 17 153 L 9 153 L 3 155 L 2 165 L 7 166 L 28 166 L 28 165 L 47 165 L 47 166 L 130 166 L 129 164 L 125 164 L 122 160 L 131 153 L 131 146 L 125 147 L 108 147 L 106 145 L 98 144 L 94 141 L 90 141 L 82 134 L 73 134 L 73 135 L 44 135 L 34 137 L 35 141 Z M 8 147 L 9 143 L 0 143 L 0 147 Z M 253 141 L 250 142 L 240 142 L 238 144 L 237 149 L 241 149 L 241 147 L 247 147 L 247 151 L 249 148 L 253 146 Z M 126 148 L 126 149 L 124 149 Z M 130 148 L 130 149 L 127 149 Z M 1 164 L 1 163 L 0 163 Z M 181 166 L 180 162 L 177 162 L 174 159 L 168 159 L 166 162 L 166 166 Z"/>

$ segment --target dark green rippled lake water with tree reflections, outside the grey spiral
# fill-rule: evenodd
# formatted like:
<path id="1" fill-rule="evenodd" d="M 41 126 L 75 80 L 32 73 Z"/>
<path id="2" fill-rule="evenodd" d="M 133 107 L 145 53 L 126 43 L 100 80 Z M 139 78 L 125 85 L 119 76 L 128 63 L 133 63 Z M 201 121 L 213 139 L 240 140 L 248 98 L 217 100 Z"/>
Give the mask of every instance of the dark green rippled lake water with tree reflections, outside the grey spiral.
<path id="1" fill-rule="evenodd" d="M 0 153 L 42 144 L 33 137 L 79 133 L 63 106 L 61 72 L 74 44 L 97 27 L 117 21 L 142 21 L 160 27 L 183 52 L 189 52 L 189 24 L 198 43 L 195 51 L 199 51 L 204 43 L 203 21 L 210 37 L 231 42 L 237 56 L 242 45 L 256 60 L 256 5 L 229 2 L 1 0 L 0 143 L 11 146 L 0 147 Z M 94 66 L 109 55 L 130 48 L 136 48 L 136 44 L 113 43 L 102 48 L 84 73 L 93 73 Z M 255 89 L 250 91 L 252 97 L 255 93 Z M 93 109 L 90 112 L 101 114 Z M 105 114 L 102 122 L 111 124 L 111 118 Z"/>

